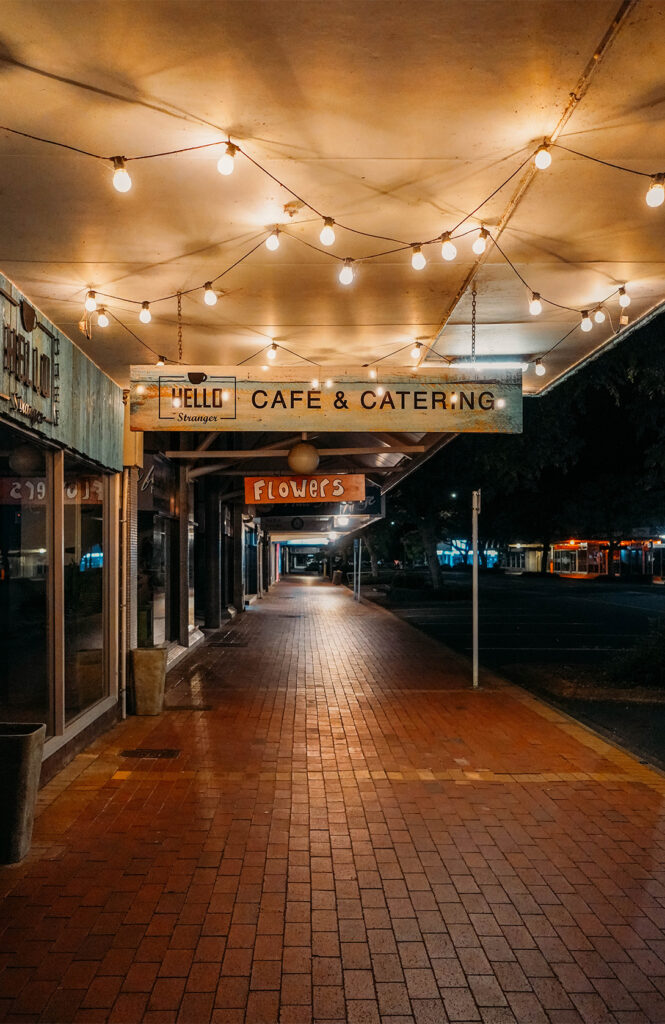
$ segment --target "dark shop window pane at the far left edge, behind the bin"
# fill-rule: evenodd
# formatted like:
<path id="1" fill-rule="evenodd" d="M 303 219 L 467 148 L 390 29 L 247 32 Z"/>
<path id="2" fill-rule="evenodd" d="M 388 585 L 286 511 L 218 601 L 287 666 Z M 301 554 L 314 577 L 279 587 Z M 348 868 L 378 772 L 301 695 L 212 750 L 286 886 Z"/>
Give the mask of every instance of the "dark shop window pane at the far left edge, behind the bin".
<path id="1" fill-rule="evenodd" d="M 53 732 L 48 452 L 0 427 L 0 718 Z"/>

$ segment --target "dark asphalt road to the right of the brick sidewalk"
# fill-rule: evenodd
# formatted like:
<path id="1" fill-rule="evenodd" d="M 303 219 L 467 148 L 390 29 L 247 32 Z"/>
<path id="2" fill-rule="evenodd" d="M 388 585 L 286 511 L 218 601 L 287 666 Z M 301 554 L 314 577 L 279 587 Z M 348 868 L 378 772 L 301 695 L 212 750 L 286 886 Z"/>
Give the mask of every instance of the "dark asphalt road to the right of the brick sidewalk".
<path id="1" fill-rule="evenodd" d="M 469 573 L 446 577 L 458 599 L 403 601 L 391 611 L 464 654 L 471 653 Z M 367 597 L 371 587 L 363 588 Z M 529 575 L 480 579 L 480 660 L 508 679 L 513 667 L 602 666 L 665 618 L 665 587 L 540 580 Z M 525 685 L 523 678 L 517 680 Z M 542 691 L 538 691 L 543 695 Z M 546 699 L 639 757 L 665 769 L 665 705 Z"/>

